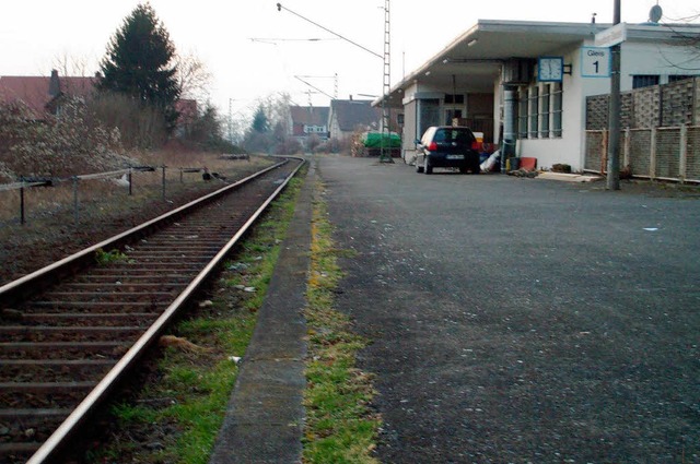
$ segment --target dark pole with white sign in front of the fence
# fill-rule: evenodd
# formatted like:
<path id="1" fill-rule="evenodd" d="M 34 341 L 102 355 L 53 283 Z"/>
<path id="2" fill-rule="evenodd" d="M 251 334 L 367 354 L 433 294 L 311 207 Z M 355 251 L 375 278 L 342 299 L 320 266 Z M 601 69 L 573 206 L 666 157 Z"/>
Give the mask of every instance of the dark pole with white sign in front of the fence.
<path id="1" fill-rule="evenodd" d="M 612 23 L 620 24 L 620 0 L 615 1 Z M 608 190 L 620 190 L 620 55 L 621 44 L 610 48 L 612 55 L 612 76 L 610 79 L 610 107 L 608 111 Z"/>

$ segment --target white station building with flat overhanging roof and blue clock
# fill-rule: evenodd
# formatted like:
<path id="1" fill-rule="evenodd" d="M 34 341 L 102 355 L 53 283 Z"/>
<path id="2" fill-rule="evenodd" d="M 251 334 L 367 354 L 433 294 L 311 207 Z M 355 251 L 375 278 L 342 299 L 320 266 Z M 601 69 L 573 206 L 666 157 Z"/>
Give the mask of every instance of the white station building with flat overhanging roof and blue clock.
<path id="1" fill-rule="evenodd" d="M 617 27 L 626 36 L 622 92 L 700 74 L 699 24 Z M 404 115 L 404 160 L 412 163 L 428 127 L 457 122 L 539 167 L 582 170 L 586 97 L 610 92 L 609 38 L 602 34 L 609 28 L 480 20 L 392 88 L 388 105 Z"/>

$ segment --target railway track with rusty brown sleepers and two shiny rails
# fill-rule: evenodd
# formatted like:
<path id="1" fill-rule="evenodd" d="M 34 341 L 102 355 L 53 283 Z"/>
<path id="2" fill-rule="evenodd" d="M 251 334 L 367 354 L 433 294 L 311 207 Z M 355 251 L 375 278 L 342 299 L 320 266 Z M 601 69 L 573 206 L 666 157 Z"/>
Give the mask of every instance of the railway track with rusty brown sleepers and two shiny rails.
<path id="1" fill-rule="evenodd" d="M 55 462 L 301 165 L 283 160 L 0 287 L 0 462 Z"/>

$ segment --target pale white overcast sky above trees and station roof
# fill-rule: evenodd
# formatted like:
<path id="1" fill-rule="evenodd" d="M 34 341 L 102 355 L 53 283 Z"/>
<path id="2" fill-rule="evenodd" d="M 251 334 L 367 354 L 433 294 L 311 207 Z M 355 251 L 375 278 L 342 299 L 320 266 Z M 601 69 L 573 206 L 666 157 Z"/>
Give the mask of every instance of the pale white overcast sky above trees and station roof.
<path id="1" fill-rule="evenodd" d="M 0 75 L 48 75 L 60 58 L 98 70 L 109 38 L 139 0 L 3 1 L 0 13 Z M 326 94 L 377 95 L 382 59 L 310 24 L 276 0 L 151 0 L 179 52 L 194 53 L 213 75 L 211 102 L 228 114 L 249 111 L 256 102 L 287 92 L 308 104 L 310 86 Z M 281 0 L 283 7 L 382 53 L 384 0 Z M 622 0 L 622 21 L 645 22 L 658 3 L 662 22 L 700 13 L 698 0 Z M 392 83 L 398 82 L 481 20 L 590 22 L 612 21 L 614 0 L 393 0 Z M 698 22 L 696 19 L 695 22 Z M 272 40 L 270 40 L 272 39 Z M 313 40 L 312 40 L 313 39 Z M 322 40 L 315 40 L 322 39 Z M 316 92 L 313 91 L 312 92 Z M 316 106 L 328 97 L 311 95 Z"/>

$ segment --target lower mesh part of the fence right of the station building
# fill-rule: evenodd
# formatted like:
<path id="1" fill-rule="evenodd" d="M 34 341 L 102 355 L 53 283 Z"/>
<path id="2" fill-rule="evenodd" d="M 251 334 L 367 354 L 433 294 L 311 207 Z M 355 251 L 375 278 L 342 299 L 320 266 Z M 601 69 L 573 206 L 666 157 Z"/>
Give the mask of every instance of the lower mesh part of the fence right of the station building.
<path id="1" fill-rule="evenodd" d="M 606 174 L 607 130 L 586 131 L 584 170 Z M 620 169 L 633 177 L 700 182 L 700 126 L 626 129 L 620 139 Z"/>

